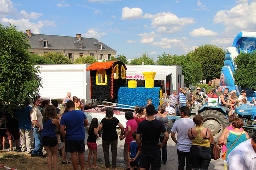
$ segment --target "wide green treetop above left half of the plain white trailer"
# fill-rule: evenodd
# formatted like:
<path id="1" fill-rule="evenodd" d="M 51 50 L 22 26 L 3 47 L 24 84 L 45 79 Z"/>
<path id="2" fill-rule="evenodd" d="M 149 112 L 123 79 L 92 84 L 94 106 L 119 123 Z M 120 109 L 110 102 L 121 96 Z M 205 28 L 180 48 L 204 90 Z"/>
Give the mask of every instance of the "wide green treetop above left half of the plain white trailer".
<path id="1" fill-rule="evenodd" d="M 66 57 L 62 53 L 56 53 L 56 52 L 44 53 L 43 58 L 46 60 L 51 60 L 54 64 L 72 64 L 73 63 L 70 59 L 68 59 L 68 57 Z"/>

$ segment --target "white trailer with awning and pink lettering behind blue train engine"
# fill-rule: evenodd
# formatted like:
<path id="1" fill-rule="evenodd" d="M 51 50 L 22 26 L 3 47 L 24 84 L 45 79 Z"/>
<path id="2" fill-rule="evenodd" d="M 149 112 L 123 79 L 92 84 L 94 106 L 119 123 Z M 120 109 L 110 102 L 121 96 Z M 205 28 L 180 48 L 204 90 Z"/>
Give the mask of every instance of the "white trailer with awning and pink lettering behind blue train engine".
<path id="1" fill-rule="evenodd" d="M 182 66 L 177 65 L 126 65 L 126 81 L 137 80 L 138 87 L 145 86 L 142 72 L 155 71 L 155 87 L 161 87 L 163 92 L 172 94 L 173 90 L 183 87 L 184 76 Z"/>

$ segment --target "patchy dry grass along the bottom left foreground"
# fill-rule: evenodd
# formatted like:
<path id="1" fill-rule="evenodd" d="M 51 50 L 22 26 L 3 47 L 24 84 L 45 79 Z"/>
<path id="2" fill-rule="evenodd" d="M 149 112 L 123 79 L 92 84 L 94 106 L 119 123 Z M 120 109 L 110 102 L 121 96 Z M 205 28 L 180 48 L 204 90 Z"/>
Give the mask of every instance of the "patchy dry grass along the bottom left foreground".
<path id="1" fill-rule="evenodd" d="M 87 157 L 85 156 L 86 160 Z M 72 164 L 61 164 L 62 158 L 58 157 L 58 170 L 72 170 Z M 92 164 L 92 162 L 91 162 Z M 47 157 L 31 157 L 26 152 L 0 152 L 0 165 L 14 168 L 17 170 L 47 170 Z M 52 164 L 53 166 L 53 164 Z M 99 170 L 106 170 L 105 165 L 97 164 L 100 166 Z M 110 166 L 111 167 L 111 166 Z M 52 167 L 53 169 L 53 167 Z M 80 169 L 80 165 L 78 165 Z M 93 168 L 86 168 L 93 170 Z M 123 168 L 116 167 L 117 170 L 123 170 Z"/>

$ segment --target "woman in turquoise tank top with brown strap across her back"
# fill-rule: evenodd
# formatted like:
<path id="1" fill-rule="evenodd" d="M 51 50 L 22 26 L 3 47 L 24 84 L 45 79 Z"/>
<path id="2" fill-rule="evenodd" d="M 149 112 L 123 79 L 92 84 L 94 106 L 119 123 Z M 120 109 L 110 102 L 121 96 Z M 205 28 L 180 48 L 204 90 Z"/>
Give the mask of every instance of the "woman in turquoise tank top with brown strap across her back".
<path id="1" fill-rule="evenodd" d="M 248 133 L 240 129 L 243 125 L 244 125 L 244 123 L 243 123 L 242 119 L 240 119 L 239 117 L 234 118 L 234 120 L 232 121 L 232 127 L 234 130 L 227 131 L 224 135 L 223 143 L 224 143 L 224 145 L 227 146 L 227 150 L 228 150 L 228 152 L 226 154 L 226 161 L 228 160 L 228 154 L 237 145 L 246 141 L 247 139 L 250 139 Z M 233 143 L 234 143 L 234 145 L 233 145 Z M 225 161 L 225 170 L 227 169 L 226 161 Z"/>

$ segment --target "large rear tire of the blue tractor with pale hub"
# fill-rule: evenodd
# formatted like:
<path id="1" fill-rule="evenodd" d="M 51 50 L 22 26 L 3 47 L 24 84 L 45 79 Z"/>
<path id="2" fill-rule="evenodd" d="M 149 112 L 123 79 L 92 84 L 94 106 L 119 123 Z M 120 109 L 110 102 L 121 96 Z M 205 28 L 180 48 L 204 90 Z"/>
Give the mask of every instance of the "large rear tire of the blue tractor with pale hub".
<path id="1" fill-rule="evenodd" d="M 200 115 L 203 117 L 203 127 L 212 131 L 215 143 L 218 143 L 223 130 L 229 126 L 229 121 L 224 114 L 216 110 L 205 110 Z"/>

